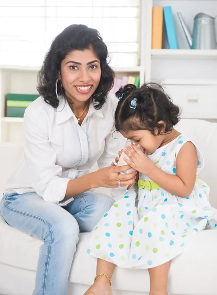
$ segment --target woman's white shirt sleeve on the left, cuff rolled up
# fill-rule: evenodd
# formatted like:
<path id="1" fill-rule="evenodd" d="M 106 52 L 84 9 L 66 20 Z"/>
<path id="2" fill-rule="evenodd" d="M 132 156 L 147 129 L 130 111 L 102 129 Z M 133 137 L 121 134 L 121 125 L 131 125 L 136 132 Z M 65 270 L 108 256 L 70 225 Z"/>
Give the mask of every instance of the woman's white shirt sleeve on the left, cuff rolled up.
<path id="1" fill-rule="evenodd" d="M 62 167 L 56 165 L 57 155 L 48 137 L 48 115 L 43 112 L 40 110 L 38 114 L 38 110 L 31 108 L 25 112 L 24 156 L 30 167 L 35 192 L 45 201 L 59 204 L 65 197 L 70 179 L 63 178 Z M 71 199 L 67 201 L 70 202 Z"/>

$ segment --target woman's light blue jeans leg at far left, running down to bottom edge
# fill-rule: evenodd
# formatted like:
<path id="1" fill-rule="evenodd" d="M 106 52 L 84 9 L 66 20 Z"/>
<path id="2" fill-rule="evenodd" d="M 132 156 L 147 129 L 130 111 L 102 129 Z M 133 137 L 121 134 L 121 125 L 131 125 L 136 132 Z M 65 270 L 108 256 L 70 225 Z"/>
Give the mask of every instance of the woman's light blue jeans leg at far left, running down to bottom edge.
<path id="1" fill-rule="evenodd" d="M 44 241 L 40 247 L 33 295 L 66 295 L 79 235 L 76 219 L 36 193 L 4 196 L 0 213 L 12 227 Z"/>

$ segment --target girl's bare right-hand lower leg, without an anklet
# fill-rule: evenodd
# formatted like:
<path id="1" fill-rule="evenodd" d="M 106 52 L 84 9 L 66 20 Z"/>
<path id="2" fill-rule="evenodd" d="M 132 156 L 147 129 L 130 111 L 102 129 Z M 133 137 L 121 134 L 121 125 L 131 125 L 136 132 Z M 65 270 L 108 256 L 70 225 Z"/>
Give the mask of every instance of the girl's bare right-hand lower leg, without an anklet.
<path id="1" fill-rule="evenodd" d="M 168 295 L 167 281 L 170 261 L 161 266 L 149 268 L 150 293 L 149 295 Z"/>

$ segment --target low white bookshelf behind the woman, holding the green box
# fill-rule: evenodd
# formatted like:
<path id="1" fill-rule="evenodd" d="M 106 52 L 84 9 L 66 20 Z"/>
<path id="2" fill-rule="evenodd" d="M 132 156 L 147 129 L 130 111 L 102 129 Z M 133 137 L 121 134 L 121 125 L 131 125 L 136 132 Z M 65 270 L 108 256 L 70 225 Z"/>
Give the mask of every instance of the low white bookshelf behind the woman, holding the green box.
<path id="1" fill-rule="evenodd" d="M 5 117 L 5 94 L 37 94 L 39 67 L 0 66 L 0 142 L 22 142 L 23 118 Z M 143 66 L 113 67 L 118 78 L 139 76 L 140 85 L 145 82 Z"/>

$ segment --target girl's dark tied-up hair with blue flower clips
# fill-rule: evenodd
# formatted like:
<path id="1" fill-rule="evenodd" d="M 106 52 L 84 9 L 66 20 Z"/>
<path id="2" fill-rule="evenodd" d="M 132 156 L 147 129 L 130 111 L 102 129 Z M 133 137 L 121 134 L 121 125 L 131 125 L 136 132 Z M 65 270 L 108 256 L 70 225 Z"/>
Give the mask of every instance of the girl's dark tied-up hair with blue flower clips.
<path id="1" fill-rule="evenodd" d="M 169 132 L 180 118 L 180 109 L 164 89 L 156 84 L 143 84 L 136 88 L 127 84 L 116 93 L 120 99 L 115 111 L 115 127 L 117 131 L 146 129 L 155 135 Z M 132 99 L 137 98 L 136 108 L 130 108 Z M 164 123 L 158 123 L 163 121 Z"/>

